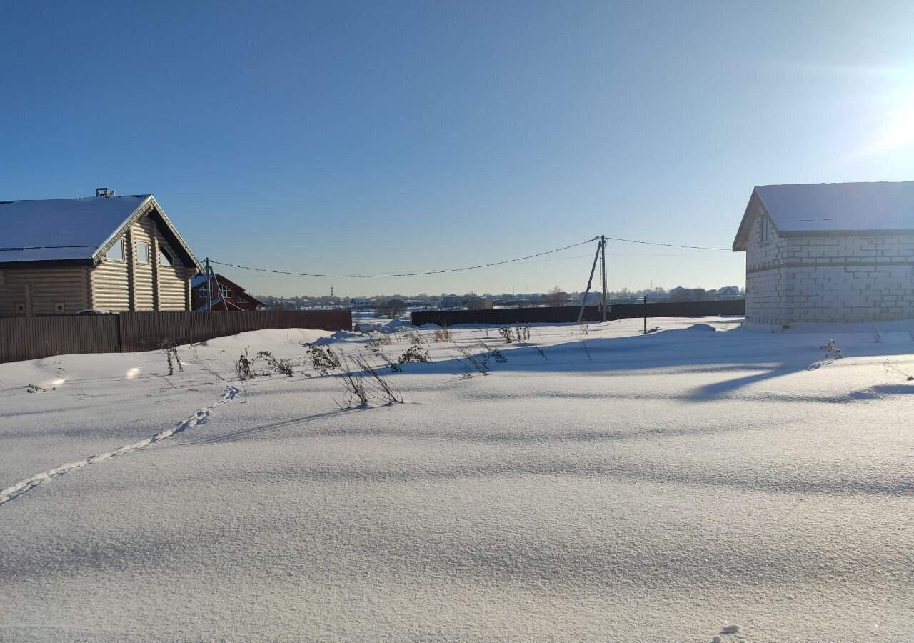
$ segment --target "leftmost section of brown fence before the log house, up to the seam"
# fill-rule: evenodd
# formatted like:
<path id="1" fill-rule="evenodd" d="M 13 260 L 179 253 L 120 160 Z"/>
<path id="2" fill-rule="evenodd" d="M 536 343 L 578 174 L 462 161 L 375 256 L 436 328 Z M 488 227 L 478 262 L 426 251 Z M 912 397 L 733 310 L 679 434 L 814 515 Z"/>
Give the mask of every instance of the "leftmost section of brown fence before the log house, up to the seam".
<path id="1" fill-rule="evenodd" d="M 117 349 L 116 315 L 0 317 L 0 362 Z"/>

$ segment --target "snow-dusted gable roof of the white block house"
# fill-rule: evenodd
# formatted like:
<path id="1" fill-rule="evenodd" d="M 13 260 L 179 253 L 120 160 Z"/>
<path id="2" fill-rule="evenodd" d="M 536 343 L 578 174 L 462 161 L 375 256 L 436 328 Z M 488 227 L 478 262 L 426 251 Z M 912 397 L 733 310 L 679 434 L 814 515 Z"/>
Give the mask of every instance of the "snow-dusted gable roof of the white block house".
<path id="1" fill-rule="evenodd" d="M 781 237 L 914 230 L 914 181 L 757 186 L 733 251 L 746 250 L 759 208 Z"/>

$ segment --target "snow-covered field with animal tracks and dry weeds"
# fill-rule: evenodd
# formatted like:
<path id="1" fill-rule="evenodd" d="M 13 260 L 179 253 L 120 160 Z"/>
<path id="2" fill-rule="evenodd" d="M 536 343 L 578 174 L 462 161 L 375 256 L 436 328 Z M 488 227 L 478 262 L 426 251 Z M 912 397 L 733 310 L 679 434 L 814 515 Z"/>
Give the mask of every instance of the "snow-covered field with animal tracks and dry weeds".
<path id="1" fill-rule="evenodd" d="M 352 409 L 318 331 L 2 364 L 0 640 L 914 640 L 909 329 L 650 325 L 422 330 Z"/>

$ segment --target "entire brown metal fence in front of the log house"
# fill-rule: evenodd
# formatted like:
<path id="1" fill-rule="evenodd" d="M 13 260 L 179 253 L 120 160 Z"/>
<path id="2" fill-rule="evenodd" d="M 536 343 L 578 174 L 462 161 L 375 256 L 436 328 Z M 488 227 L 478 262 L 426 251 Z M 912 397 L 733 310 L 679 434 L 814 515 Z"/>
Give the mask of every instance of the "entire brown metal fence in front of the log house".
<path id="1" fill-rule="evenodd" d="M 262 328 L 349 330 L 349 310 L 0 317 L 0 363 L 76 353 L 151 350 L 164 339 L 206 341 Z"/>

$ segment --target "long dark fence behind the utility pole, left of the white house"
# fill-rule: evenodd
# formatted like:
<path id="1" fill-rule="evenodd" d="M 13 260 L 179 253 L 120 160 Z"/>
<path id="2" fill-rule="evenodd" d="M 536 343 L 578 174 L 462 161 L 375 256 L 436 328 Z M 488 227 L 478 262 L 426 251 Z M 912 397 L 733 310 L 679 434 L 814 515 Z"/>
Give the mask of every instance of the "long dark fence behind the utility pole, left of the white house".
<path id="1" fill-rule="evenodd" d="M 413 326 L 438 324 L 537 324 L 541 322 L 576 322 L 579 306 L 563 305 L 547 308 L 496 308 L 492 310 L 434 310 L 412 313 Z M 704 317 L 715 315 L 745 315 L 745 299 L 714 302 L 671 302 L 664 304 L 614 304 L 609 306 L 607 319 L 629 317 Z M 600 306 L 584 306 L 584 320 L 599 321 Z"/>

